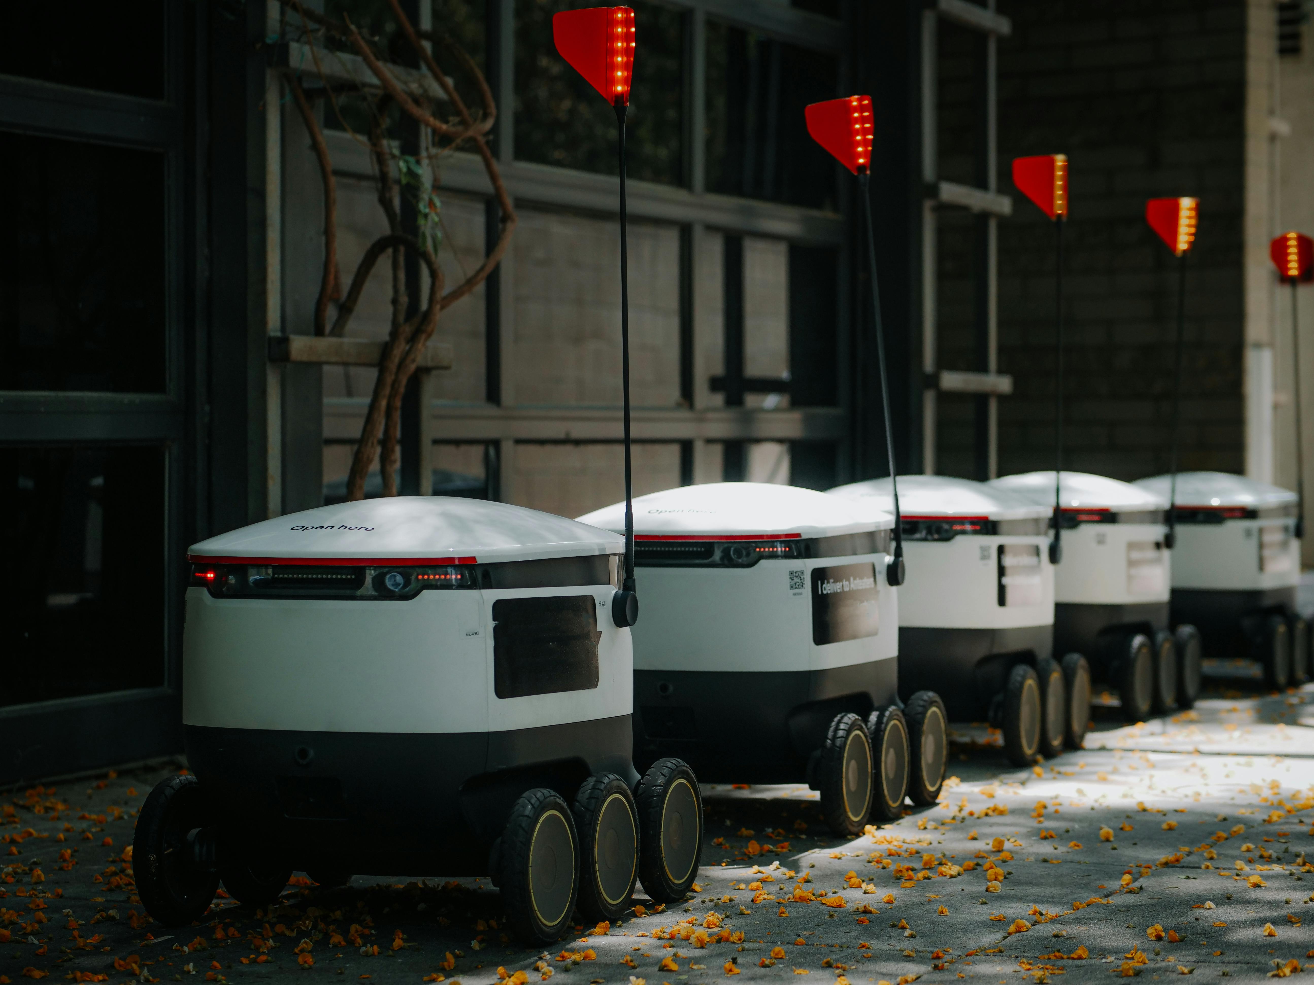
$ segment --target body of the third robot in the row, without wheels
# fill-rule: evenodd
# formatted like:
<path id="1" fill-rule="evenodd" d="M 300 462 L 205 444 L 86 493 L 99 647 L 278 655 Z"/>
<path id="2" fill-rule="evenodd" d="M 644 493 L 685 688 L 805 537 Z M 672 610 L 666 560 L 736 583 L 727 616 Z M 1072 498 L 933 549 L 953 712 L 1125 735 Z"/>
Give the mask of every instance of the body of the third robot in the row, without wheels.
<path id="1" fill-rule="evenodd" d="M 832 495 L 894 508 L 890 479 Z M 970 479 L 900 475 L 907 580 L 899 588 L 899 692 L 933 688 L 951 718 L 983 718 L 1018 662 L 1053 651 L 1049 511 Z"/>

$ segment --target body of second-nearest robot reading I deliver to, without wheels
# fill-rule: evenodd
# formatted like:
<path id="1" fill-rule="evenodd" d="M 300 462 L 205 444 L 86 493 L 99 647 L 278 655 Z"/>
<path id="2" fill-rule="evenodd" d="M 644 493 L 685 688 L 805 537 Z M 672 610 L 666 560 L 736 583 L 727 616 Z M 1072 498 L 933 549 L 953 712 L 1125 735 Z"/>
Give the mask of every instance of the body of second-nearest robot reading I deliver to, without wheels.
<path id="1" fill-rule="evenodd" d="M 892 700 L 891 516 L 749 482 L 640 496 L 633 512 L 640 766 L 678 755 L 706 780 L 798 781 L 838 712 Z M 579 520 L 623 531 L 624 506 Z M 731 701 L 753 729 L 723 726 Z"/>

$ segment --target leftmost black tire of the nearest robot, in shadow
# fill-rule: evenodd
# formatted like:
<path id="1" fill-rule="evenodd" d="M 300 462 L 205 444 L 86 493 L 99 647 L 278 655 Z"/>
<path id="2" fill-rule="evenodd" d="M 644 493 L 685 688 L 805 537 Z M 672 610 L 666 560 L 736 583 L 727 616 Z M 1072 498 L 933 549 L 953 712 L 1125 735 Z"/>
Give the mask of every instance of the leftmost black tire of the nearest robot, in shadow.
<path id="1" fill-rule="evenodd" d="M 166 927 L 205 915 L 219 888 L 218 872 L 192 862 L 187 837 L 213 817 L 194 776 L 170 776 L 146 797 L 133 834 L 137 894 Z"/>

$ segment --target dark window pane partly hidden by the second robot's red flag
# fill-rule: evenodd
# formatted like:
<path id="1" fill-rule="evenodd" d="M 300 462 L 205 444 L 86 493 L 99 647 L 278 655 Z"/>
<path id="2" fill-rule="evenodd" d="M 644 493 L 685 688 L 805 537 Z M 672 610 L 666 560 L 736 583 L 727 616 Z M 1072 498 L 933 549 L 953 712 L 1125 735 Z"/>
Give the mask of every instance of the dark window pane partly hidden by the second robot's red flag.
<path id="1" fill-rule="evenodd" d="M 834 55 L 707 22 L 707 190 L 834 209 L 834 162 L 803 109 L 838 93 Z"/>

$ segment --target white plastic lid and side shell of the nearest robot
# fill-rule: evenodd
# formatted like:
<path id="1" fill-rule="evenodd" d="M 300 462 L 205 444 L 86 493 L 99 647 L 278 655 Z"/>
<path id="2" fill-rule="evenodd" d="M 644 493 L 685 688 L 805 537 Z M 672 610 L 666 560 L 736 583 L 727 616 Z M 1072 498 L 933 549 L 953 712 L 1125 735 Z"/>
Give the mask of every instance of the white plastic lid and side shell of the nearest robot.
<path id="1" fill-rule="evenodd" d="M 560 516 L 417 496 L 281 516 L 204 541 L 192 554 L 402 562 L 451 556 L 482 563 L 622 550 L 615 535 Z M 480 733 L 629 714 L 632 640 L 629 629 L 611 620 L 614 592 L 611 584 L 430 590 L 403 602 L 225 599 L 192 587 L 183 641 L 183 721 L 230 729 Z M 598 686 L 497 697 L 493 604 L 579 595 L 595 600 Z"/>

